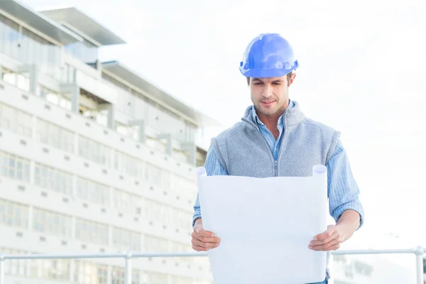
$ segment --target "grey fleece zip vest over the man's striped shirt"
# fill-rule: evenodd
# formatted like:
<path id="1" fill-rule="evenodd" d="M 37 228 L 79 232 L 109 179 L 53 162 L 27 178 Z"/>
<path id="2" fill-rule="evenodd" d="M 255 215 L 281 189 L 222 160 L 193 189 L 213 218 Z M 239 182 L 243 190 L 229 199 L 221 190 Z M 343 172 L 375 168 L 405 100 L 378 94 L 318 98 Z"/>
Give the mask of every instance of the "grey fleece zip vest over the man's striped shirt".
<path id="1" fill-rule="evenodd" d="M 278 160 L 274 160 L 271 148 L 253 122 L 252 107 L 247 107 L 241 121 L 212 138 L 219 163 L 229 175 L 307 177 L 312 175 L 314 165 L 327 165 L 340 132 L 308 119 L 300 105 L 294 103 L 283 115 L 284 133 Z M 328 259 L 329 254 L 327 263 Z M 329 278 L 328 268 L 326 276 Z"/>

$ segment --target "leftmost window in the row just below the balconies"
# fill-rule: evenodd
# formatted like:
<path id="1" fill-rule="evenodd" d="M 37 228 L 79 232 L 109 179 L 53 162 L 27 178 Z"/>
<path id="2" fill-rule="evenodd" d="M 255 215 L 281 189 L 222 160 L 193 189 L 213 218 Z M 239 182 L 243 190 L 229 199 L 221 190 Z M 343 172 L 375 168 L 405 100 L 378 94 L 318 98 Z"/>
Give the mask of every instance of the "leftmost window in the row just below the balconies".
<path id="1" fill-rule="evenodd" d="M 0 127 L 13 133 L 31 138 L 33 116 L 7 104 L 0 103 Z"/>

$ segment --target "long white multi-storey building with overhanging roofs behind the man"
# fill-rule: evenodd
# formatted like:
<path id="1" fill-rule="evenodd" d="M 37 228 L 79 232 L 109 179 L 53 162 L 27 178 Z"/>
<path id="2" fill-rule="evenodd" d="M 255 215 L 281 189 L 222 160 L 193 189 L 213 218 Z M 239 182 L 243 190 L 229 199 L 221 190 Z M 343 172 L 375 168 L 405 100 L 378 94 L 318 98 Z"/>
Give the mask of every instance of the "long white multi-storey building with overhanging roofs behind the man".
<path id="1" fill-rule="evenodd" d="M 192 251 L 195 169 L 217 122 L 99 48 L 75 8 L 0 2 L 0 253 Z M 124 283 L 124 261 L 6 261 L 6 283 Z M 207 258 L 133 260 L 133 283 L 212 283 Z"/>

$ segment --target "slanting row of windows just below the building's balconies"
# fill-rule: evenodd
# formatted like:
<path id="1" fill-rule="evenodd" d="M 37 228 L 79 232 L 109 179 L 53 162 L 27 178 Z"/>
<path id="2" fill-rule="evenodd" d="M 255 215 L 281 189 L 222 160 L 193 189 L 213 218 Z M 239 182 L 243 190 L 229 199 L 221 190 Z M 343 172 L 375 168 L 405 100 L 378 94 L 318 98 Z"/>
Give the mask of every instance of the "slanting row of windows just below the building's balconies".
<path id="1" fill-rule="evenodd" d="M 62 127 L 43 119 L 36 119 L 36 124 L 35 138 L 37 141 L 74 153 L 75 135 L 72 131 L 62 129 Z M 30 138 L 31 129 L 33 129 L 33 117 L 26 112 L 0 103 L 0 127 Z M 102 143 L 84 136 L 78 136 L 78 155 L 82 158 L 106 167 L 114 167 L 115 170 L 131 175 L 133 178 L 150 182 L 158 187 L 172 190 L 185 189 L 185 191 L 187 189 L 195 190 L 196 188 L 195 182 L 173 175 L 168 170 L 145 163 L 120 151 L 114 151 L 114 165 L 112 165 L 112 152 L 112 148 L 104 146 Z"/>

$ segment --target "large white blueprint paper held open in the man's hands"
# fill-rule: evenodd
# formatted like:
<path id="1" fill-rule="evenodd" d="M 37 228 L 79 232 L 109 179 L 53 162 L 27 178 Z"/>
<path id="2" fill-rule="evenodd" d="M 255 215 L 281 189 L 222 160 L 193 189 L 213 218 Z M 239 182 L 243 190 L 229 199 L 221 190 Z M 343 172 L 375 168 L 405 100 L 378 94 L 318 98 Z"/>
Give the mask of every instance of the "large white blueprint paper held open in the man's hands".
<path id="1" fill-rule="evenodd" d="M 323 281 L 326 252 L 307 246 L 327 229 L 327 168 L 310 177 L 206 176 L 198 169 L 203 229 L 221 244 L 208 251 L 215 284 Z"/>

